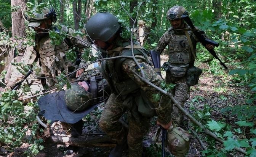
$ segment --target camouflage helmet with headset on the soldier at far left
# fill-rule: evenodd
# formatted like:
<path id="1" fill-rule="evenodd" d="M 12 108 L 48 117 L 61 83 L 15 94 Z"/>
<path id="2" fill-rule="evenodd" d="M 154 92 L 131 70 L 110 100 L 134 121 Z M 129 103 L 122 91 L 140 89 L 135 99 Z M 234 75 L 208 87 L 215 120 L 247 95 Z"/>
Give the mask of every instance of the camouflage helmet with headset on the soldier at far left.
<path id="1" fill-rule="evenodd" d="M 36 7 L 33 9 L 33 17 L 29 17 L 29 27 L 38 27 L 43 20 L 50 19 L 52 22 L 56 22 L 57 20 L 57 14 L 55 12 L 55 9 L 48 9 L 46 7 L 43 7 L 42 12 L 38 13 L 36 11 Z"/>

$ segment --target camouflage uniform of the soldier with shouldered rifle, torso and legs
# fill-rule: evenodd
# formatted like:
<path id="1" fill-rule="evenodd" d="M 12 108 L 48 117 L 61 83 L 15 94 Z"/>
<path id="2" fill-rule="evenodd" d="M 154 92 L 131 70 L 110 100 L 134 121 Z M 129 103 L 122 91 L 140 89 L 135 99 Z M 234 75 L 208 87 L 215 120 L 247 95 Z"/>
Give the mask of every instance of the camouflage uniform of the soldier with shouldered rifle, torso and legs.
<path id="1" fill-rule="evenodd" d="M 189 26 L 186 24 L 185 27 L 189 28 Z M 189 35 L 195 49 L 195 44 L 199 41 L 194 33 L 192 33 L 191 31 L 189 31 Z M 169 48 L 169 61 L 171 60 L 173 64 L 180 64 L 183 62 L 188 63 L 189 67 L 194 65 L 195 58 L 193 57 L 191 50 L 189 49 L 189 44 L 187 42 L 184 30 L 174 30 L 173 28 L 170 28 L 160 38 L 157 47 L 154 50 L 162 53 L 167 45 Z M 183 57 L 181 57 L 182 55 Z M 170 71 L 166 71 L 165 81 L 166 83 L 177 84 L 175 86 L 175 89 L 173 90 L 173 96 L 183 107 L 186 100 L 189 99 L 190 96 L 190 86 L 187 85 L 186 75 L 181 78 L 176 78 L 171 75 Z M 178 108 L 173 107 L 173 120 L 175 124 L 178 125 L 180 123 L 180 119 L 181 113 L 179 112 Z"/>

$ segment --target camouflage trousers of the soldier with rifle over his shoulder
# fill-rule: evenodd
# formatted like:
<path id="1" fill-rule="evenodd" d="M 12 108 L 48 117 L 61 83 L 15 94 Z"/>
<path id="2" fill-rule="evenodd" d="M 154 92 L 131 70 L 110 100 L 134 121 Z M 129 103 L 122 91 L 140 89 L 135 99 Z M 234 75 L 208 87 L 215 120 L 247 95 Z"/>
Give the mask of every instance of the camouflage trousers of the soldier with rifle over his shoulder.
<path id="1" fill-rule="evenodd" d="M 179 102 L 182 107 L 184 107 L 186 100 L 190 97 L 190 86 L 187 85 L 187 78 L 175 78 L 171 75 L 170 72 L 166 71 L 165 82 L 167 84 L 176 84 L 175 88 L 172 90 L 173 97 Z M 182 120 L 181 115 L 181 111 L 179 111 L 179 109 L 175 105 L 173 105 L 172 118 L 175 124 L 179 125 Z"/>

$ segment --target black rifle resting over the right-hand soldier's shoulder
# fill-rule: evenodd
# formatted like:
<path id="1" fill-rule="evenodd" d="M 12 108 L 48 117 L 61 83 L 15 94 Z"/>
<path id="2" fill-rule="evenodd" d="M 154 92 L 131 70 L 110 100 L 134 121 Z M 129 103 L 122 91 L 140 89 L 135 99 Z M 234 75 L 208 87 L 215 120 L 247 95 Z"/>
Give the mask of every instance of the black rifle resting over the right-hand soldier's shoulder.
<path id="1" fill-rule="evenodd" d="M 190 26 L 191 30 L 193 31 L 194 35 L 197 37 L 197 39 L 202 43 L 202 45 L 205 47 L 206 44 L 211 44 L 213 46 L 218 47 L 219 43 L 215 42 L 213 40 L 210 39 L 205 39 L 205 37 L 202 35 L 205 32 L 204 31 L 198 31 L 197 28 L 195 28 L 194 24 L 192 23 L 192 21 L 190 20 L 188 15 L 182 15 L 181 16 L 182 19 L 184 19 L 186 21 L 186 23 Z M 227 69 L 227 66 L 219 59 L 219 57 L 217 56 L 216 52 L 214 51 L 214 49 L 210 49 L 208 50 L 211 55 L 213 55 L 214 58 L 216 58 L 217 60 L 219 60 L 220 64 Z"/>

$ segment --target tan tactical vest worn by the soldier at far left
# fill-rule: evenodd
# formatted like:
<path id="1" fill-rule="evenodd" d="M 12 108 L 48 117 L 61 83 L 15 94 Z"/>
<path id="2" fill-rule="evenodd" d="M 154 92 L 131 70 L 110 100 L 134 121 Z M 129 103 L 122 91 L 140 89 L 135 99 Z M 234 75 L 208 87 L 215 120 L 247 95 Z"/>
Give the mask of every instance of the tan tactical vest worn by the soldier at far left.
<path id="1" fill-rule="evenodd" d="M 62 28 L 62 30 L 66 30 L 64 33 L 67 33 L 68 30 L 65 28 Z M 64 40 L 60 45 L 51 44 L 49 36 L 46 36 L 37 43 L 36 50 L 40 55 L 40 61 L 50 69 L 53 78 L 56 78 L 55 71 L 58 71 L 59 75 L 61 71 L 65 70 L 67 74 L 68 68 L 72 65 L 72 62 L 65 57 L 65 52 L 68 49 L 69 47 Z"/>

